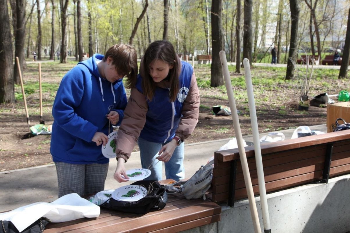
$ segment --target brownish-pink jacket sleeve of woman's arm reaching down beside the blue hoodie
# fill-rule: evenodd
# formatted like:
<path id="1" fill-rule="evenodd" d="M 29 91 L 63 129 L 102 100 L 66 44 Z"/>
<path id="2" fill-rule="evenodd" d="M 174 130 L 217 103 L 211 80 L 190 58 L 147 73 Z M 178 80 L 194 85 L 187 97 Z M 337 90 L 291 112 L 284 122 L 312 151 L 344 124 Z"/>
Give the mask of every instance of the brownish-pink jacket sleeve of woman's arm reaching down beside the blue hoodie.
<path id="1" fill-rule="evenodd" d="M 118 131 L 117 159 L 122 157 L 126 162 L 130 158 L 141 130 L 145 126 L 147 111 L 148 104 L 145 96 L 136 88 L 132 88 L 128 104 L 124 111 L 124 119 Z"/>

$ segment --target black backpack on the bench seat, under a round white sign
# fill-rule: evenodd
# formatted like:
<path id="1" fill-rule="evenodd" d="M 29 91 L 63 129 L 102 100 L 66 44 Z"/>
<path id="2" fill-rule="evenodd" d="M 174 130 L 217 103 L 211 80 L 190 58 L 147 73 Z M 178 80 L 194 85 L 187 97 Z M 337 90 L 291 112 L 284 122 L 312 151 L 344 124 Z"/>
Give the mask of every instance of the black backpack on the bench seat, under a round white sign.
<path id="1" fill-rule="evenodd" d="M 108 199 L 100 206 L 126 213 L 144 214 L 153 210 L 162 210 L 168 201 L 164 186 L 154 180 L 137 181 L 131 185 L 141 185 L 148 190 L 146 197 L 136 202 L 123 202 L 113 198 Z"/>

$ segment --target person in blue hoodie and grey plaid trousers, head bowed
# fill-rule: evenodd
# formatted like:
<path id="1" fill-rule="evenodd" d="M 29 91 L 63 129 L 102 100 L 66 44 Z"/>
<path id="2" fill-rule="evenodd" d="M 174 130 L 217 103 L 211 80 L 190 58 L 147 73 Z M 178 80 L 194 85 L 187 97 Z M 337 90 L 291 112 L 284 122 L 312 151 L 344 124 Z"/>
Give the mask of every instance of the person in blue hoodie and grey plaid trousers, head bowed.
<path id="1" fill-rule="evenodd" d="M 104 190 L 109 159 L 101 152 L 112 125 L 120 125 L 127 104 L 122 79 L 137 76 L 137 54 L 117 44 L 68 71 L 59 85 L 52 115 L 50 152 L 55 162 L 58 197 Z"/>

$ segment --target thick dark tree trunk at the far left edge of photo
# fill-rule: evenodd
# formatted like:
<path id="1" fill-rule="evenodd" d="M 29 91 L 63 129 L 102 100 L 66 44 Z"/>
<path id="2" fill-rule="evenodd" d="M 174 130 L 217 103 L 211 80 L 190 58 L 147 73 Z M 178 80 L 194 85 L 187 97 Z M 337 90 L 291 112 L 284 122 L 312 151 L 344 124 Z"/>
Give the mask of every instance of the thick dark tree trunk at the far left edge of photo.
<path id="1" fill-rule="evenodd" d="M 13 51 L 7 0 L 0 0 L 0 104 L 15 103 Z"/>

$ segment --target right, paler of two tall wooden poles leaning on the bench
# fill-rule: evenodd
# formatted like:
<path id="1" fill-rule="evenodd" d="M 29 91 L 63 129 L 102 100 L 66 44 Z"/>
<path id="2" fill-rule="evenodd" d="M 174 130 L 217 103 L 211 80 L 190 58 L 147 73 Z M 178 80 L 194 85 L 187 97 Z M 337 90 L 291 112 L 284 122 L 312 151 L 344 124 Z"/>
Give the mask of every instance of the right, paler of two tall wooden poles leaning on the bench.
<path id="1" fill-rule="evenodd" d="M 271 233 L 270 218 L 269 218 L 268 207 L 267 207 L 264 167 L 262 166 L 258 118 L 257 118 L 257 112 L 255 108 L 252 75 L 250 73 L 250 64 L 247 58 L 243 59 L 243 65 L 244 65 L 245 83 L 247 85 L 247 93 L 248 93 L 250 122 L 252 123 L 255 163 L 257 165 L 261 211 L 262 211 L 262 219 L 264 222 L 264 232 Z"/>

